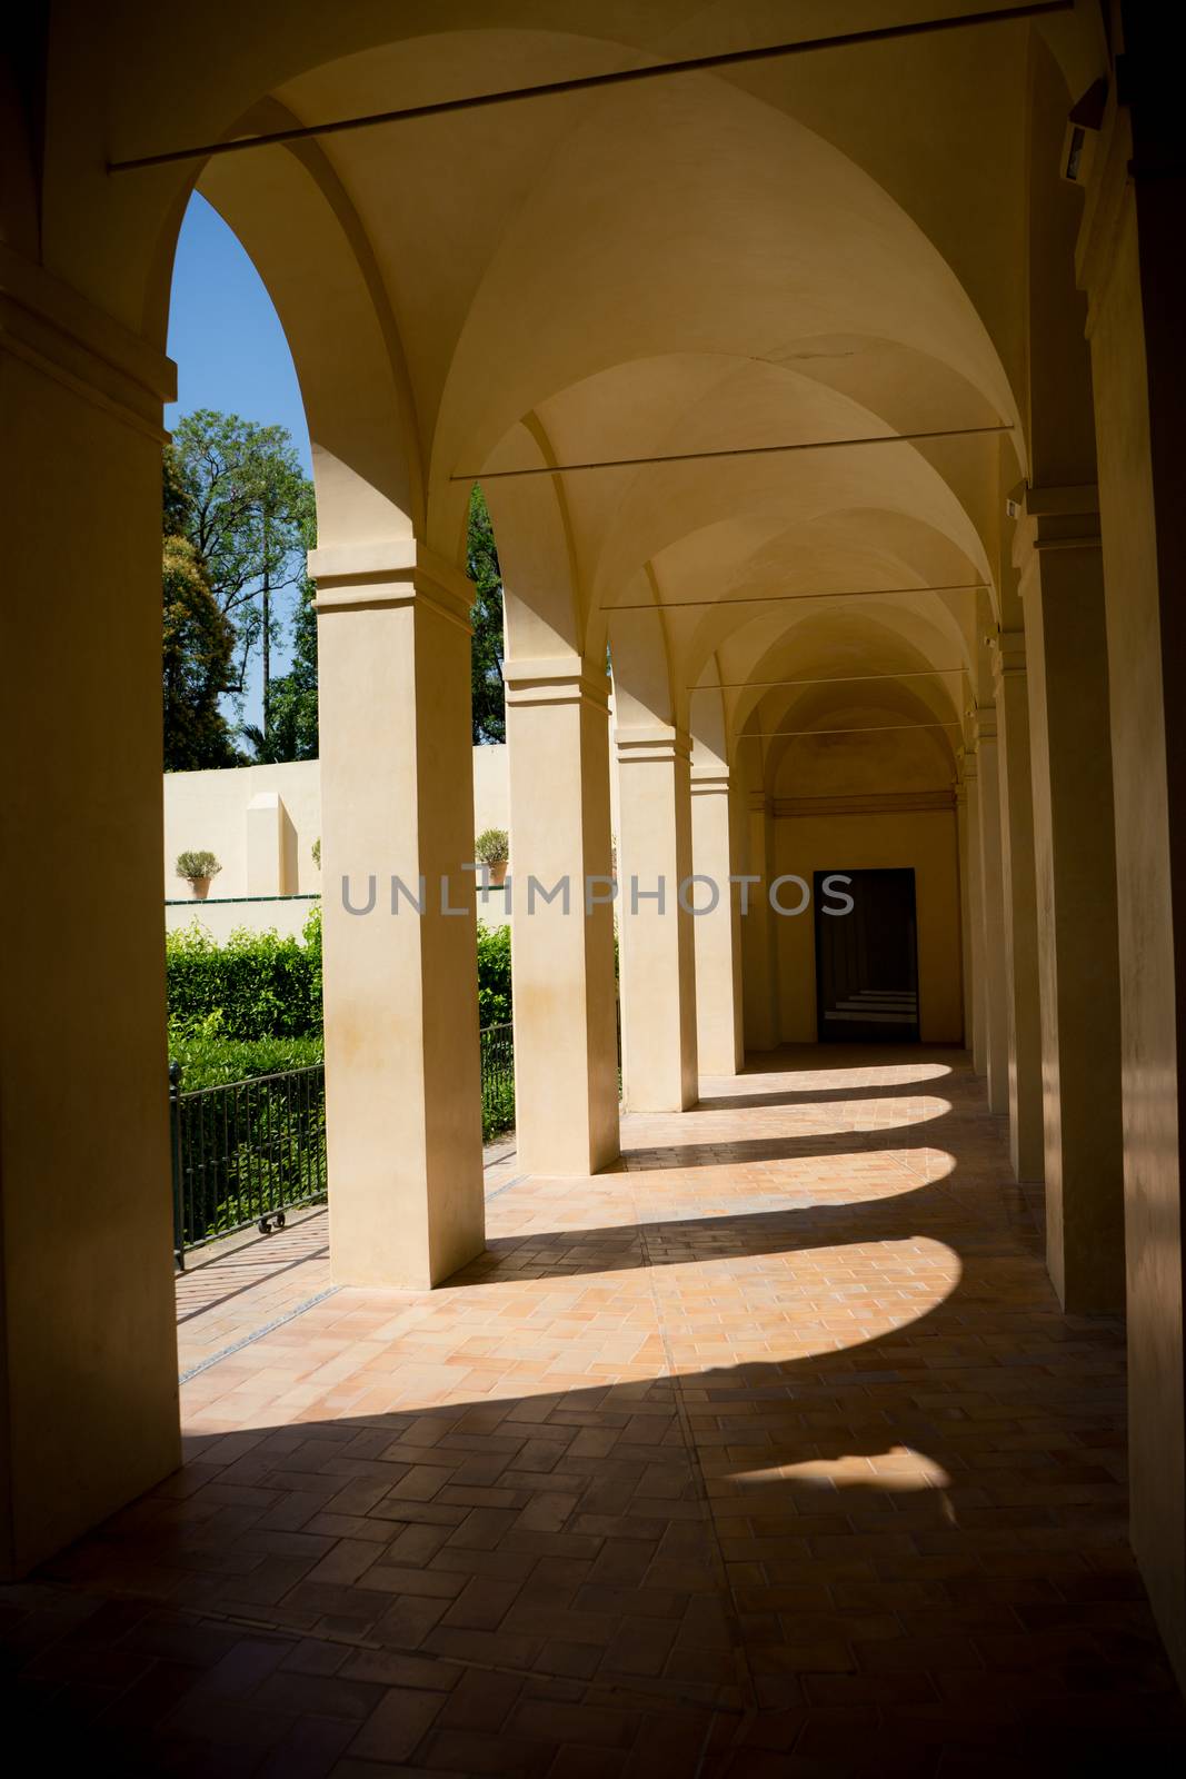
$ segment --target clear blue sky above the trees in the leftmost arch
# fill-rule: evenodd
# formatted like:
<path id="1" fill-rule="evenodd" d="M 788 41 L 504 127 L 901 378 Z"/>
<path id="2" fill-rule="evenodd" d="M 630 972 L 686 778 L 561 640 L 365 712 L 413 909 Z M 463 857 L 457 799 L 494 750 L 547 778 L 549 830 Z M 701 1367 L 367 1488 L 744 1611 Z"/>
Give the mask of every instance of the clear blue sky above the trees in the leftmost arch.
<path id="1" fill-rule="evenodd" d="M 309 432 L 284 331 L 260 274 L 226 222 L 194 194 L 185 212 L 172 269 L 169 358 L 178 366 L 178 400 L 165 427 L 196 407 L 219 407 L 263 425 L 288 427 L 311 470 Z M 288 651 L 272 655 L 283 672 Z M 247 722 L 261 720 L 258 664 L 247 694 Z"/>

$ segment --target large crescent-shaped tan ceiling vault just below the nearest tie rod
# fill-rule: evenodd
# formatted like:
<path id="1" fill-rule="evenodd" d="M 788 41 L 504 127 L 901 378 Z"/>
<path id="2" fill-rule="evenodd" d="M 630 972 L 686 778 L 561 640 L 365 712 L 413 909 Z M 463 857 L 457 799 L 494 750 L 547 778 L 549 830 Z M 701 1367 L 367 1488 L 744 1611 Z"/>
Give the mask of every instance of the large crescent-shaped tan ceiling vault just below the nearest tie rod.
<path id="1" fill-rule="evenodd" d="M 946 361 L 1015 418 L 1010 379 L 942 253 L 788 105 L 789 94 L 777 105 L 704 76 L 656 85 L 645 112 L 622 91 L 574 112 L 542 176 L 516 194 L 473 294 L 443 386 L 434 473 L 453 470 L 462 450 L 480 468 L 514 418 L 613 366 L 672 349 L 779 359 L 814 340 L 821 317 L 829 333 L 893 338 Z M 589 194 L 580 229 L 573 190 Z M 530 356 L 514 350 L 525 338 Z"/>

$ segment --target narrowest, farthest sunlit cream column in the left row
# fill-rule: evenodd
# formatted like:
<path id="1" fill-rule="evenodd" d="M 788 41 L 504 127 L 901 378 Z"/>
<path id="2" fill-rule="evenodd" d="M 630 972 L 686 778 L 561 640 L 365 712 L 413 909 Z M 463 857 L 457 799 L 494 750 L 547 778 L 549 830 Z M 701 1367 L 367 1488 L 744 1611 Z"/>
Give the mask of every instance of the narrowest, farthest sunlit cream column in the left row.
<path id="1" fill-rule="evenodd" d="M 741 914 L 733 872 L 729 770 L 692 767 L 695 886 L 695 1048 L 702 1075 L 736 1075 L 741 1041 Z"/>

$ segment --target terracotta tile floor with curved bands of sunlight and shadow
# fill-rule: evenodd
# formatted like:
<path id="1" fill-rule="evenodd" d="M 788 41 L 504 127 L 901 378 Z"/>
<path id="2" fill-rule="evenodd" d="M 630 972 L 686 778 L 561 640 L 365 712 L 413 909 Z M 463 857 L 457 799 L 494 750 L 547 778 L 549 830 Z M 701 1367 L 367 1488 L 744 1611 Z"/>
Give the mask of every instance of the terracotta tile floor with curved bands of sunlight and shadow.
<path id="1" fill-rule="evenodd" d="M 1181 1758 L 1122 1331 L 1060 1315 L 964 1059 L 704 1096 L 621 1172 L 489 1171 L 445 1290 L 322 1295 L 324 1219 L 183 1281 L 185 1468 L 2 1592 L 7 1735 L 283 1779 Z"/>

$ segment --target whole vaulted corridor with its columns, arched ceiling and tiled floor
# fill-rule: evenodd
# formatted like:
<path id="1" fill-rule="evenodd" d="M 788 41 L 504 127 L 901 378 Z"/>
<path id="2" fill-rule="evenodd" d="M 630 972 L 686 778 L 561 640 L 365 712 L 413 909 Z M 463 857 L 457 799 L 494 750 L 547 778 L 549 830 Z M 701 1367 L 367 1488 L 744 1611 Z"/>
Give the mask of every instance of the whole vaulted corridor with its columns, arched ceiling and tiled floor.
<path id="1" fill-rule="evenodd" d="M 688 1775 L 829 1770 L 843 1729 L 946 1779 L 1172 1733 L 1174 59 L 1131 0 L 950 7 L 50 0 L 5 46 L 0 1571 L 50 1713 L 91 1686 L 199 1768 L 286 1772 L 292 1733 L 340 1779 L 637 1772 L 669 1729 Z M 311 1260 L 228 1292 L 181 1466 L 194 190 L 309 425 L 331 1295 L 224 1354 Z M 523 1178 L 482 1155 L 475 482 Z M 848 873 L 910 881 L 821 938 L 800 890 Z M 910 1048 L 804 1048 L 878 1018 Z"/>

